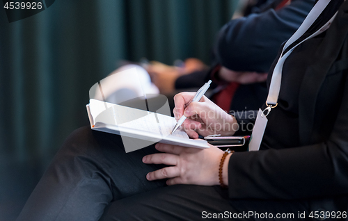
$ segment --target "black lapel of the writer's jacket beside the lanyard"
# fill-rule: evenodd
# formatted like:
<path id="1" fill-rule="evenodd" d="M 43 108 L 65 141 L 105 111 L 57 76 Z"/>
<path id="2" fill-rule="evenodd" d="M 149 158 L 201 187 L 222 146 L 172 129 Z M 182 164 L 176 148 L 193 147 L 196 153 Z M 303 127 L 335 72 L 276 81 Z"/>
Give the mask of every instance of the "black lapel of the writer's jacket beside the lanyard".
<path id="1" fill-rule="evenodd" d="M 326 74 L 338 57 L 348 33 L 348 1 L 342 4 L 322 43 L 308 65 L 299 92 L 299 135 L 301 145 L 309 145 L 313 133 L 315 104 Z"/>

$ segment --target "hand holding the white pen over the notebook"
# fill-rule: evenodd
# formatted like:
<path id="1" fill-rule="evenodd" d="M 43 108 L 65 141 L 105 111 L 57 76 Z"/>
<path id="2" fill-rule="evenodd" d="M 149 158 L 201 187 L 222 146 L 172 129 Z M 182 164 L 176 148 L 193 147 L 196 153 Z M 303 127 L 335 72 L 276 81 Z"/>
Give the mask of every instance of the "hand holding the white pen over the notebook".
<path id="1" fill-rule="evenodd" d="M 198 134 L 232 136 L 237 131 L 238 123 L 235 117 L 228 115 L 205 96 L 199 102 L 191 102 L 194 95 L 196 95 L 195 92 L 182 92 L 175 95 L 173 110 L 176 120 L 179 120 L 182 115 L 187 117 L 182 127 L 191 138 L 198 138 Z"/>

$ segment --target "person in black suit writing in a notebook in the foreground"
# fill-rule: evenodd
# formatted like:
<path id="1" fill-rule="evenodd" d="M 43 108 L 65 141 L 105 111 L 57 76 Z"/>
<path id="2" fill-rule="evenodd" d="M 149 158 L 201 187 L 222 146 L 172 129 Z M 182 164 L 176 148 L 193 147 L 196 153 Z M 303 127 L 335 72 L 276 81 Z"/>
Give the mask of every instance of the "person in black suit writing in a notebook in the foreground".
<path id="1" fill-rule="evenodd" d="M 323 32 L 299 47 L 286 45 L 285 52 L 293 51 L 260 151 L 226 155 L 214 146 L 158 143 L 125 154 L 120 136 L 84 127 L 65 141 L 17 220 L 347 218 L 348 2 L 329 1 L 321 12 L 314 11 L 319 18 L 294 44 Z M 279 74 L 278 58 L 268 85 Z M 184 110 L 192 96 L 175 96 L 176 118 L 199 117 L 183 124 L 191 138 L 211 134 L 209 122 L 239 122 L 207 97 Z"/>

